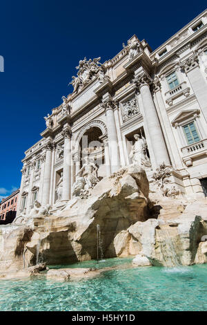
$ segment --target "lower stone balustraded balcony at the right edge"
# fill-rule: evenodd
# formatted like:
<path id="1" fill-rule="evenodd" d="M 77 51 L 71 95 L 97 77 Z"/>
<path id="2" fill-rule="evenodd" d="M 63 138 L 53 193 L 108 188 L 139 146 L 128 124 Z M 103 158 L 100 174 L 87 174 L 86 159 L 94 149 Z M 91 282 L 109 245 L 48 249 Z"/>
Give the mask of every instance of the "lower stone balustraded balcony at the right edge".
<path id="1" fill-rule="evenodd" d="M 188 145 L 181 148 L 181 153 L 183 156 L 183 161 L 187 167 L 193 165 L 193 158 L 198 156 L 207 155 L 207 139 L 200 140 L 193 143 L 193 145 Z"/>

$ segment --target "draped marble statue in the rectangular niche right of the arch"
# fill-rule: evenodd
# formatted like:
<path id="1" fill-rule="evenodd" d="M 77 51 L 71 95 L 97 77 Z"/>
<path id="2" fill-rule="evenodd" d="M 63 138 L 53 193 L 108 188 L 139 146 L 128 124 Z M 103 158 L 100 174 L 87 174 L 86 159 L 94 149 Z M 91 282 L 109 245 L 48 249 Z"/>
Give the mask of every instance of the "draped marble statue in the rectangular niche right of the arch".
<path id="1" fill-rule="evenodd" d="M 130 152 L 130 158 L 134 165 L 139 165 L 144 169 L 150 168 L 150 159 L 146 154 L 147 142 L 143 136 L 135 134 L 135 145 L 132 146 L 132 151 Z"/>

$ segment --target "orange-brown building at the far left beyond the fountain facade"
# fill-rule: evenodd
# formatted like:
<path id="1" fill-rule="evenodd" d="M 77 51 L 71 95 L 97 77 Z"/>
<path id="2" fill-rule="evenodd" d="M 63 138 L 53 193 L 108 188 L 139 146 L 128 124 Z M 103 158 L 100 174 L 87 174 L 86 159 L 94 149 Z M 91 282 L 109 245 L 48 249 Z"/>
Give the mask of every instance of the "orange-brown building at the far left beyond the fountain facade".
<path id="1" fill-rule="evenodd" d="M 19 189 L 15 190 L 7 198 L 3 198 L 0 203 L 0 223 L 10 223 L 17 214 L 17 202 Z"/>

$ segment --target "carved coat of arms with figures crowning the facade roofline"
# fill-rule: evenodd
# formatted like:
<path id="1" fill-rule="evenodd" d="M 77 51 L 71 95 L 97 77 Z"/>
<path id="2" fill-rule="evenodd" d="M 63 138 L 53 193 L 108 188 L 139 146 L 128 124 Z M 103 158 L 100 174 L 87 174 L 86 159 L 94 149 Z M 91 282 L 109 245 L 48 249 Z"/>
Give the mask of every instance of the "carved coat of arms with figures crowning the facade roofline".
<path id="1" fill-rule="evenodd" d="M 93 77 L 99 77 L 99 82 L 105 82 L 108 79 L 105 75 L 106 68 L 101 65 L 99 62 L 100 59 L 101 57 L 97 57 L 87 61 L 86 57 L 84 57 L 83 60 L 79 61 L 79 66 L 76 67 L 79 70 L 77 77 L 73 75 L 72 82 L 70 82 L 74 88 L 74 93 L 78 93 L 83 89 Z"/>

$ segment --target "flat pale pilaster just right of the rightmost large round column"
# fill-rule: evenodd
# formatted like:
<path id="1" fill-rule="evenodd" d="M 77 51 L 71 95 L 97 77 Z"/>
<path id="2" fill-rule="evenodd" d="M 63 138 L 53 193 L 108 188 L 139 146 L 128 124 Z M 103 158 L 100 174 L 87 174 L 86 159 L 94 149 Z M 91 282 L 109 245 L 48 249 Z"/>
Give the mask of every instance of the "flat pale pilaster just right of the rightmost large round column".
<path id="1" fill-rule="evenodd" d="M 166 106 L 161 95 L 161 83 L 159 80 L 155 80 L 153 82 L 153 86 L 155 91 L 155 100 L 157 102 L 157 113 L 159 115 L 161 127 L 166 138 L 166 144 L 168 146 L 172 167 L 175 169 L 181 169 L 183 167 L 183 164 L 179 155 L 179 151 L 177 149 L 177 143 L 175 142 L 174 134 L 172 133 L 172 127 L 168 118 L 168 114 L 166 112 Z"/>

